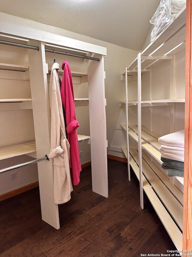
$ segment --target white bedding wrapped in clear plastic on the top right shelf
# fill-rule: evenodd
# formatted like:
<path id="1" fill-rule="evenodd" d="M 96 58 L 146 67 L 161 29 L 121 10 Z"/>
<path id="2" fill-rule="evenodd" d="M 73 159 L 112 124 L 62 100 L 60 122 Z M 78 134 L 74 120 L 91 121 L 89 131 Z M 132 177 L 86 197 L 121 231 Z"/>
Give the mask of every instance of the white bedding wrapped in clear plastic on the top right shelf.
<path id="1" fill-rule="evenodd" d="M 186 0 L 161 0 L 160 5 L 150 20 L 150 23 L 154 25 L 151 33 L 151 42 L 155 40 L 184 5 L 186 5 Z"/>

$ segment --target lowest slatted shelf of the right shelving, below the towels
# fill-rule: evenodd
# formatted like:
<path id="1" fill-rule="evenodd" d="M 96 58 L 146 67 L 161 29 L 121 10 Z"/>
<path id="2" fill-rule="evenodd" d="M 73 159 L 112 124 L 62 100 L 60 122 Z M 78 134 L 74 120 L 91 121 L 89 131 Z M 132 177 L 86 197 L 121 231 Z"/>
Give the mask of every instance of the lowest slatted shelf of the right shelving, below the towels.
<path id="1" fill-rule="evenodd" d="M 125 149 L 124 149 L 125 150 Z M 130 165 L 139 180 L 138 152 L 130 149 Z M 145 164 L 144 164 L 145 163 Z M 180 202 L 143 160 L 143 190 L 178 250 L 182 249 L 183 209 Z M 151 169 L 151 170 L 150 170 Z M 165 176 L 166 177 L 166 176 Z M 172 185 L 174 187 L 174 185 Z M 177 223 L 177 224 L 176 224 Z"/>

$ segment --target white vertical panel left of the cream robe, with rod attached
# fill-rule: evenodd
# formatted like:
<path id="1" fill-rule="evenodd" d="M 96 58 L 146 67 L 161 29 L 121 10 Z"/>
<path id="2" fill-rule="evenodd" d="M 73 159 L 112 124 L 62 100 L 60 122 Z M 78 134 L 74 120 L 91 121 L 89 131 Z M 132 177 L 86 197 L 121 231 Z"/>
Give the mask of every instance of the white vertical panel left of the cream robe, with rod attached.
<path id="1" fill-rule="evenodd" d="M 29 45 L 39 46 L 39 51 L 28 50 L 32 94 L 33 119 L 37 158 L 50 152 L 50 104 L 47 86 L 45 45 L 30 40 Z M 53 170 L 51 161 L 38 163 L 42 219 L 59 229 L 58 205 L 53 200 Z"/>

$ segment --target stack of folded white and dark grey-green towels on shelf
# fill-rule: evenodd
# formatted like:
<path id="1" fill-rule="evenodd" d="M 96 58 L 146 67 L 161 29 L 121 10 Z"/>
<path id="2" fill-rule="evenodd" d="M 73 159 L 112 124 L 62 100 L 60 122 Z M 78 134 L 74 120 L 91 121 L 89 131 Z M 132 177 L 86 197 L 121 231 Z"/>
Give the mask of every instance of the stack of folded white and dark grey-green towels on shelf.
<path id="1" fill-rule="evenodd" d="M 167 170 L 167 176 L 184 177 L 184 130 L 161 136 L 158 141 L 162 168 Z"/>

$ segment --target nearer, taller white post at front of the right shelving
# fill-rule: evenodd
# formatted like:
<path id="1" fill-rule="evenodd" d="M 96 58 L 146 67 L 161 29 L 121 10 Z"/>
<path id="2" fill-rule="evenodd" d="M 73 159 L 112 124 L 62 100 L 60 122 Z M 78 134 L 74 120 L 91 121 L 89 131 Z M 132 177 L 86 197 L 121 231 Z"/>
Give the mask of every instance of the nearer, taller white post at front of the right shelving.
<path id="1" fill-rule="evenodd" d="M 139 177 L 140 177 L 140 205 L 143 204 L 143 167 L 142 167 L 142 142 L 141 142 L 141 53 L 138 54 L 138 151 L 139 151 Z"/>

